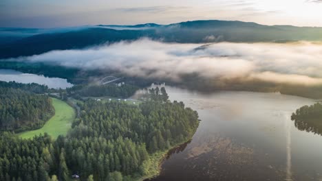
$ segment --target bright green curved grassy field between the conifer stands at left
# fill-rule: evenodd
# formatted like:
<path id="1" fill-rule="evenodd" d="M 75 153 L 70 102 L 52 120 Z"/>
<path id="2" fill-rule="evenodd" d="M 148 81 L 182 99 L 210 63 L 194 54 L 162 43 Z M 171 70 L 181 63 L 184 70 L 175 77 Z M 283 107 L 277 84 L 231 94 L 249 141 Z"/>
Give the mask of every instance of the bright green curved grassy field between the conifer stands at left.
<path id="1" fill-rule="evenodd" d="M 32 130 L 28 132 L 22 132 L 19 134 L 21 138 L 32 138 L 39 134 L 47 132 L 53 138 L 57 138 L 58 135 L 65 135 L 67 130 L 72 125 L 72 121 L 75 118 L 75 110 L 64 101 L 56 98 L 52 98 L 52 104 L 55 108 L 54 117 L 48 120 L 43 128 L 39 130 Z"/>

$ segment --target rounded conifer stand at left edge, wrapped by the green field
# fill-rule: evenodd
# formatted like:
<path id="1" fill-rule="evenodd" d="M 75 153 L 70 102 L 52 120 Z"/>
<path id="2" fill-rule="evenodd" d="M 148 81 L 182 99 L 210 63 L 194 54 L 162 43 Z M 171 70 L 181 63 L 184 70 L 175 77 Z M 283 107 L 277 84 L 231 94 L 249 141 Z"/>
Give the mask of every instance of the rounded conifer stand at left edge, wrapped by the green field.
<path id="1" fill-rule="evenodd" d="M 54 115 L 52 99 L 17 88 L 0 87 L 0 130 L 21 132 L 41 128 Z"/>

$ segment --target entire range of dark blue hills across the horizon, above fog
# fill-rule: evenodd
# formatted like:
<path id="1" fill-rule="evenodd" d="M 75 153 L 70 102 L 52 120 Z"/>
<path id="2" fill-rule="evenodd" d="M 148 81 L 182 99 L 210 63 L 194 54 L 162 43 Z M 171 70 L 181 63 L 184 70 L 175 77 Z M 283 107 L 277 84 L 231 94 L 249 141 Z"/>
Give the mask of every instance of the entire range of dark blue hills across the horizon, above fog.
<path id="1" fill-rule="evenodd" d="M 1 34 L 1 32 L 0 32 Z M 98 25 L 70 32 L 53 32 L 0 43 L 0 58 L 32 56 L 55 49 L 83 49 L 120 40 L 153 40 L 175 43 L 277 42 L 322 40 L 322 27 L 259 25 L 241 21 L 187 21 L 170 25 Z"/>

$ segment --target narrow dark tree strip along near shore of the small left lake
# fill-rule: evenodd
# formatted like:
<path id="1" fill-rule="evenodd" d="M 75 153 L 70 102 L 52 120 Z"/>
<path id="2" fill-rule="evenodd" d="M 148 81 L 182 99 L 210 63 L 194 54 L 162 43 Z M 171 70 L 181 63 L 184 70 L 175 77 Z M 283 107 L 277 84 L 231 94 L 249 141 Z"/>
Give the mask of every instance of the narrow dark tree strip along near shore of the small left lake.
<path id="1" fill-rule="evenodd" d="M 19 88 L 21 90 L 26 90 L 31 93 L 37 93 L 37 94 L 48 93 L 50 90 L 48 86 L 40 85 L 36 83 L 22 84 L 18 82 L 3 82 L 3 81 L 0 81 L 0 88 Z"/>

